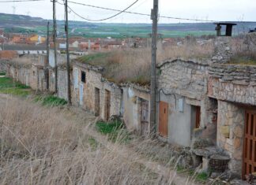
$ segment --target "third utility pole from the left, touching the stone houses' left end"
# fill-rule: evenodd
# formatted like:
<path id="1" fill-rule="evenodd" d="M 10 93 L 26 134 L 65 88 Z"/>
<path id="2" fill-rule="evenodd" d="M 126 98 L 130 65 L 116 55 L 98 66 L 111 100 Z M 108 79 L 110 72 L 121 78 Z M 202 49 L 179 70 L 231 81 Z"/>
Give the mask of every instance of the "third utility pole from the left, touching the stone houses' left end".
<path id="1" fill-rule="evenodd" d="M 67 0 L 65 2 L 65 14 L 66 14 L 66 70 L 67 70 L 67 95 L 68 95 L 68 104 L 71 105 L 71 87 L 70 87 L 70 51 L 69 51 L 69 16 L 67 9 Z"/>

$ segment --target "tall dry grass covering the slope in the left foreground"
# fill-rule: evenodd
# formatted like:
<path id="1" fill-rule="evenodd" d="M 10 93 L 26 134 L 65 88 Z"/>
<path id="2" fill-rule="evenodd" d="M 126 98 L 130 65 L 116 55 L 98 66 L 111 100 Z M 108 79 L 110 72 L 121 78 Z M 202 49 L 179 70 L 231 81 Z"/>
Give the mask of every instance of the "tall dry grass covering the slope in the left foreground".
<path id="1" fill-rule="evenodd" d="M 170 182 L 141 164 L 137 154 L 94 134 L 86 124 L 94 118 L 82 115 L 77 117 L 67 109 L 0 98 L 0 183 Z"/>

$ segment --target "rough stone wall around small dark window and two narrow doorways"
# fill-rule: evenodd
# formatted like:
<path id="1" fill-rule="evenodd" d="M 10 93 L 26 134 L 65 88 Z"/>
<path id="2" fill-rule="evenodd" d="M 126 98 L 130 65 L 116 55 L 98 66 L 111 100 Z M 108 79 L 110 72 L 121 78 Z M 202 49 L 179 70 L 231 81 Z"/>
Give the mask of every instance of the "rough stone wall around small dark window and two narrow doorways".
<path id="1" fill-rule="evenodd" d="M 85 72 L 85 83 L 81 82 L 82 71 Z M 100 90 L 100 118 L 106 120 L 106 91 L 111 93 L 110 116 L 120 115 L 122 103 L 121 88 L 115 85 L 115 83 L 104 80 L 100 73 L 100 68 L 75 62 L 73 64 L 73 104 L 80 105 L 83 109 L 96 113 L 96 88 Z M 83 94 L 82 102 L 80 101 L 81 93 Z"/>

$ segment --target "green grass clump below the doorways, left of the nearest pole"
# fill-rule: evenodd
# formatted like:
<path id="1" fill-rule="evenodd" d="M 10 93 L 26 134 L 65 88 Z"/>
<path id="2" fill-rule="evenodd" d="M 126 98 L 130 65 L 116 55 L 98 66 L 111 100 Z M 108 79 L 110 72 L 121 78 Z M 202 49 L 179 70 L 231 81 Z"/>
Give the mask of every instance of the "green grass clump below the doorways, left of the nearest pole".
<path id="1" fill-rule="evenodd" d="M 96 122 L 96 129 L 100 133 L 107 135 L 107 138 L 112 142 L 129 142 L 130 134 L 126 131 L 121 120 L 115 119 L 105 122 L 103 120 Z"/>

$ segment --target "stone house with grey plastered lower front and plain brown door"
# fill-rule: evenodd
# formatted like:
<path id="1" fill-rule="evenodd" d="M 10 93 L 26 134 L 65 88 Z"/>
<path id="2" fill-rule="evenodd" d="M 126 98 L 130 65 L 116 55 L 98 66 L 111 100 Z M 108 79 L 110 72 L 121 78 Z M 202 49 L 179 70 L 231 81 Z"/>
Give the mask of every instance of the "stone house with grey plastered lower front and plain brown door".
<path id="1" fill-rule="evenodd" d="M 157 129 L 160 139 L 191 146 L 194 137 L 216 143 L 216 102 L 207 97 L 209 60 L 167 60 L 158 65 Z"/>

